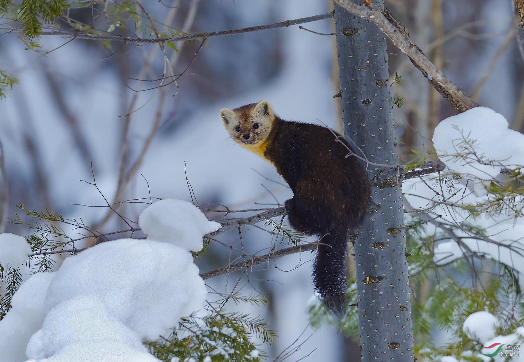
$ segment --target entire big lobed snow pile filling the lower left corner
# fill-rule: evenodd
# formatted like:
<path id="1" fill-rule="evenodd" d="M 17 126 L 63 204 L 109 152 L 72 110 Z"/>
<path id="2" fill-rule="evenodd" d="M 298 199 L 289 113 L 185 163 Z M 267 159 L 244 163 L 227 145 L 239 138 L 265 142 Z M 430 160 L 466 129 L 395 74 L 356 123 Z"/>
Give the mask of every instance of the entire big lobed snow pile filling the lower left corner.
<path id="1" fill-rule="evenodd" d="M 96 245 L 21 284 L 0 321 L 0 362 L 26 360 L 26 348 L 42 362 L 156 361 L 141 341 L 168 336 L 206 293 L 191 253 L 176 245 Z"/>

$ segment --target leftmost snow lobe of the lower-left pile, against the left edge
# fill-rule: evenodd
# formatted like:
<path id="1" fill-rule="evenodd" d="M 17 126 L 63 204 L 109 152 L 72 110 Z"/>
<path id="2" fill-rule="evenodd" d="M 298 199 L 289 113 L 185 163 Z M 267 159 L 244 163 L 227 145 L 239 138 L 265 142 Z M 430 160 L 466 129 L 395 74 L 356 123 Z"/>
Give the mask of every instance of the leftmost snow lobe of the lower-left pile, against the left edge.
<path id="1" fill-rule="evenodd" d="M 0 361 L 26 360 L 26 345 L 42 325 L 46 312 L 43 300 L 52 273 L 36 273 L 20 285 L 11 300 L 12 308 L 0 321 Z"/>

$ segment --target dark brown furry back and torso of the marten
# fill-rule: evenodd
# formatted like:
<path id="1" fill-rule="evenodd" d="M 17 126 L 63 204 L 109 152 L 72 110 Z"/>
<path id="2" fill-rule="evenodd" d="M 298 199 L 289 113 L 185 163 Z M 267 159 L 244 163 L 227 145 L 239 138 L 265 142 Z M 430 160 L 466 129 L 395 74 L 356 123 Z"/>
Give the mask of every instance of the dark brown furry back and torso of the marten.
<path id="1" fill-rule="evenodd" d="M 348 148 L 344 137 L 326 127 L 278 117 L 272 125 L 264 155 L 293 190 L 308 235 L 352 229 L 366 211 L 369 181 L 358 159 L 346 157 L 352 153 Z"/>

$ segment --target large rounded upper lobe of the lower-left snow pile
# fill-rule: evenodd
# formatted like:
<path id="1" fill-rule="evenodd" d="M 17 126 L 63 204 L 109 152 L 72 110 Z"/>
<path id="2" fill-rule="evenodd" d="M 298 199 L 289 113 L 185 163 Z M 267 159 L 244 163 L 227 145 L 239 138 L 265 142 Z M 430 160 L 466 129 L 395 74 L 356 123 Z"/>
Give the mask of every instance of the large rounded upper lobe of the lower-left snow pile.
<path id="1" fill-rule="evenodd" d="M 88 293 L 140 338 L 158 339 L 180 317 L 202 309 L 207 291 L 188 251 L 154 240 L 119 239 L 65 259 L 49 285 L 46 310 Z"/>

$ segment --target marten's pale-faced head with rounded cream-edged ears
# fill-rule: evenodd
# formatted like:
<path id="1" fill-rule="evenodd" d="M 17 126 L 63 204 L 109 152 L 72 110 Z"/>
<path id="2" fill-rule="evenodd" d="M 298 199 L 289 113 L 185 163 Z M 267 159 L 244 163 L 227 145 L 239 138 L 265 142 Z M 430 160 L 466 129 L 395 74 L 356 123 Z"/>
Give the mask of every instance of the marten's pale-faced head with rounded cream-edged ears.
<path id="1" fill-rule="evenodd" d="M 248 104 L 233 111 L 222 108 L 220 116 L 231 138 L 244 147 L 263 144 L 275 119 L 275 113 L 267 101 Z"/>

